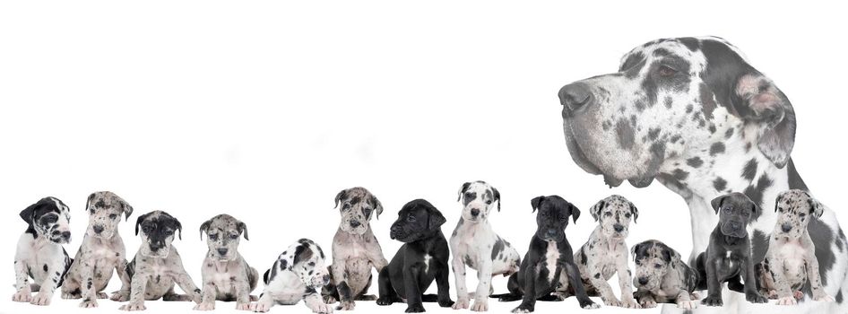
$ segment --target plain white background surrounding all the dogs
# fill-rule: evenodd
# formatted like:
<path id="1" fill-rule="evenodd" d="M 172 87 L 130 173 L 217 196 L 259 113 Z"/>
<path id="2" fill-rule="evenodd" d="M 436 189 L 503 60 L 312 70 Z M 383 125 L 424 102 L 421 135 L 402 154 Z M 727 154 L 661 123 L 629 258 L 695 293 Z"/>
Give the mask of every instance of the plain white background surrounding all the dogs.
<path id="1" fill-rule="evenodd" d="M 264 272 L 299 238 L 329 251 L 339 222 L 333 196 L 362 186 L 385 205 L 371 225 L 391 258 L 399 243 L 388 227 L 404 203 L 428 199 L 446 215 L 449 235 L 460 214 L 456 191 L 476 179 L 501 191 L 503 211 L 491 223 L 521 254 L 535 228 L 533 196 L 558 194 L 586 211 L 616 193 L 640 209 L 629 244 L 659 239 L 688 256 L 682 199 L 658 183 L 610 189 L 577 168 L 557 98 L 562 85 L 615 71 L 630 48 L 665 37 L 721 36 L 780 86 L 799 121 L 792 157 L 800 174 L 848 222 L 839 203 L 848 174 L 840 166 L 845 21 L 844 8 L 818 4 L 4 2 L 0 312 L 117 312 L 112 301 L 77 310 L 79 301 L 58 293 L 46 309 L 11 301 L 14 246 L 26 228 L 18 213 L 43 196 L 64 200 L 73 256 L 85 197 L 97 190 L 134 206 L 120 227 L 130 256 L 138 214 L 161 209 L 180 219 L 175 246 L 195 283 L 206 250 L 197 230 L 214 214 L 247 222 L 252 240 L 240 251 Z M 593 228 L 584 214 L 567 229 L 572 245 Z M 108 292 L 118 287 L 113 278 Z M 506 292 L 506 280 L 495 290 Z M 490 305 L 503 313 L 518 302 Z M 219 310 L 234 306 L 218 302 Z M 357 303 L 359 312 L 404 309 Z M 577 304 L 539 302 L 536 310 Z M 273 309 L 283 311 L 308 312 L 302 303 Z"/>

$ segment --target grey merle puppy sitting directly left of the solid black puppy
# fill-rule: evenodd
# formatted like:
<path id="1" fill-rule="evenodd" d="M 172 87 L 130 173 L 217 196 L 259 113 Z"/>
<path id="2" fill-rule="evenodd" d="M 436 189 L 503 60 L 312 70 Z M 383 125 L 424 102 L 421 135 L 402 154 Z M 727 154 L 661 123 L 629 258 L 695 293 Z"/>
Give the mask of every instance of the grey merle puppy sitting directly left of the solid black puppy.
<path id="1" fill-rule="evenodd" d="M 365 188 L 348 188 L 335 196 L 335 205 L 342 214 L 339 230 L 333 237 L 333 265 L 330 266 L 330 284 L 324 286 L 324 301 L 341 304 L 336 310 L 353 310 L 354 300 L 375 301 L 368 295 L 371 286 L 371 268 L 377 274 L 388 265 L 380 242 L 371 230 L 372 216 L 379 219 L 383 205 Z"/>

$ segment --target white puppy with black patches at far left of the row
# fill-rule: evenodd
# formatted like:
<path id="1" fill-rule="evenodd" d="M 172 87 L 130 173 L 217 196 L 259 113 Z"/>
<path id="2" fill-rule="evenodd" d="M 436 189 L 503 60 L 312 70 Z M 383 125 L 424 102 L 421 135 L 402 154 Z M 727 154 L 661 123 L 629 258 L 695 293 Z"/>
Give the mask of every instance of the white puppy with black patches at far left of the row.
<path id="1" fill-rule="evenodd" d="M 71 211 L 56 197 L 44 197 L 21 211 L 27 222 L 14 253 L 15 290 L 12 301 L 49 305 L 65 280 L 73 259 L 63 244 L 71 241 Z M 30 278 L 34 281 L 30 285 Z M 32 292 L 39 292 L 34 297 Z"/>

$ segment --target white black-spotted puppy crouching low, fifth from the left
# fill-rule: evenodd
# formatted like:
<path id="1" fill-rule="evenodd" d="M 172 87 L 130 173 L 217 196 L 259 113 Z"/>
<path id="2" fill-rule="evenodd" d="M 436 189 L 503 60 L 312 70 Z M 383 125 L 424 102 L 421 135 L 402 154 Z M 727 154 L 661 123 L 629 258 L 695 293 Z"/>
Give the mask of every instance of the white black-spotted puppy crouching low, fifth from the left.
<path id="1" fill-rule="evenodd" d="M 318 292 L 330 283 L 330 274 L 324 265 L 324 250 L 312 240 L 300 239 L 291 244 L 265 271 L 263 281 L 264 292 L 250 310 L 267 312 L 274 304 L 294 305 L 303 300 L 315 313 L 333 312 Z"/>

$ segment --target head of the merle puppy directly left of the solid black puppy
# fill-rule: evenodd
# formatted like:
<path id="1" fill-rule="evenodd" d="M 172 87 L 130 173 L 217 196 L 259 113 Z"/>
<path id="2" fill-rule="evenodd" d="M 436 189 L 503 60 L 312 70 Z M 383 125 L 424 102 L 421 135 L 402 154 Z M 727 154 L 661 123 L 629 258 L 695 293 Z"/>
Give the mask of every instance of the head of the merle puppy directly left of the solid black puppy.
<path id="1" fill-rule="evenodd" d="M 376 214 L 377 219 L 383 213 L 383 204 L 365 188 L 344 189 L 335 196 L 335 206 L 339 207 L 342 222 L 339 228 L 351 234 L 362 234 L 368 231 L 368 222 Z"/>

